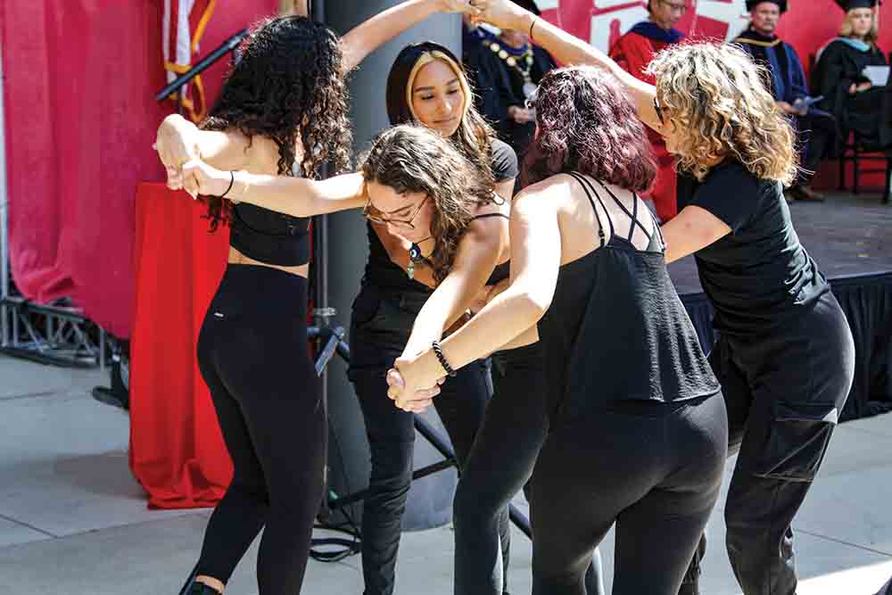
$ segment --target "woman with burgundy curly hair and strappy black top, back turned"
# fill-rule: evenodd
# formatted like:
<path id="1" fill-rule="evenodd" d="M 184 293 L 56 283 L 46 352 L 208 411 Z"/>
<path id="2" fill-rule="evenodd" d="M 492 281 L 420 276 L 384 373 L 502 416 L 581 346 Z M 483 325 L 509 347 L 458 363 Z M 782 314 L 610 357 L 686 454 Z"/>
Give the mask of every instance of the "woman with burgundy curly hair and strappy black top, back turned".
<path id="1" fill-rule="evenodd" d="M 533 474 L 533 593 L 585 593 L 591 550 L 616 524 L 617 595 L 674 595 L 722 483 L 727 414 L 638 193 L 656 164 L 619 84 L 554 70 L 511 213 L 511 285 L 388 376 L 416 388 L 537 327 L 549 434 Z"/>

